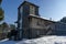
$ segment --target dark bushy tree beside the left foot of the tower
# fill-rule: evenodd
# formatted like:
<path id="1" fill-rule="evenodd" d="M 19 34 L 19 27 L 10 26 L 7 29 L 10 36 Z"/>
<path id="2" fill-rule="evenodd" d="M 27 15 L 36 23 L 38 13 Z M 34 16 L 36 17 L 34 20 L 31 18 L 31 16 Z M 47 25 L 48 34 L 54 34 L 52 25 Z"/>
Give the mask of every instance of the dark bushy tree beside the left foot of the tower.
<path id="1" fill-rule="evenodd" d="M 15 25 L 10 24 L 10 28 L 11 28 L 11 31 L 8 33 L 8 37 L 12 40 L 12 36 L 13 36 L 13 40 L 16 40 L 18 31 L 15 30 Z"/>

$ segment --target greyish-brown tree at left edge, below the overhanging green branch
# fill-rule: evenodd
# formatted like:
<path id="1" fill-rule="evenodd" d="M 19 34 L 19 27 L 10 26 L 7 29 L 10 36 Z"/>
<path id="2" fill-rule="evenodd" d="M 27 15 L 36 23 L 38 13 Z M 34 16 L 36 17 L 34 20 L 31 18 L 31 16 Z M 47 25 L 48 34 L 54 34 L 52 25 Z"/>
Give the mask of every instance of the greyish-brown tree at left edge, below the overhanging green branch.
<path id="1" fill-rule="evenodd" d="M 8 23 L 3 22 L 2 24 L 0 24 L 0 26 L 1 26 L 0 31 L 2 33 L 1 36 L 2 36 L 2 38 L 6 38 L 8 35 L 8 32 L 9 32 L 9 25 L 8 25 Z"/>

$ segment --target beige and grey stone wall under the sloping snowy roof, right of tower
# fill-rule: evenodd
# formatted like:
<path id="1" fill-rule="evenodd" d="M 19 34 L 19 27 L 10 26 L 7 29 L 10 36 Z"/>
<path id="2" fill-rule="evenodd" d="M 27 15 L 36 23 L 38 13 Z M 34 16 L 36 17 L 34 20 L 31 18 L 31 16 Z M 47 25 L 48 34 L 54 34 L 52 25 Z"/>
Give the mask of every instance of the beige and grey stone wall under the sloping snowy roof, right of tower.
<path id="1" fill-rule="evenodd" d="M 31 18 L 30 22 L 30 37 L 40 37 L 50 35 L 53 30 L 53 22 L 37 18 Z"/>

